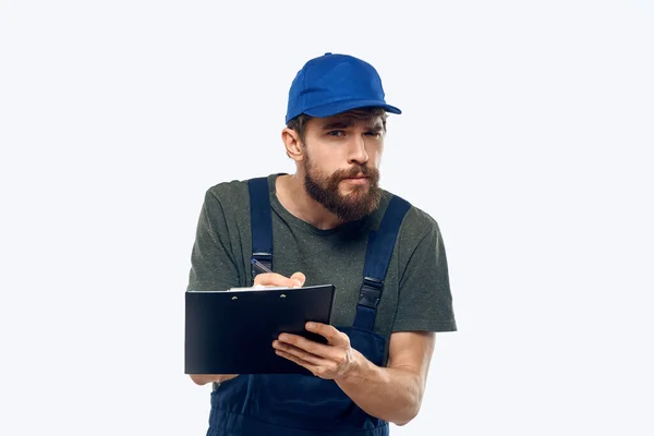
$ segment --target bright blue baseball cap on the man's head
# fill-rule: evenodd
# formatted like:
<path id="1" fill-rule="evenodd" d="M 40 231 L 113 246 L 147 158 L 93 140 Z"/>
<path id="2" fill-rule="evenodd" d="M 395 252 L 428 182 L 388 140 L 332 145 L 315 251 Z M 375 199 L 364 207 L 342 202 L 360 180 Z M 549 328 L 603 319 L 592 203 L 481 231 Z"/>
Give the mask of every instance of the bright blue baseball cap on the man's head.
<path id="1" fill-rule="evenodd" d="M 402 113 L 384 97 L 382 78 L 373 65 L 349 55 L 325 53 L 307 61 L 295 75 L 286 122 L 301 113 L 324 118 L 366 107 Z"/>

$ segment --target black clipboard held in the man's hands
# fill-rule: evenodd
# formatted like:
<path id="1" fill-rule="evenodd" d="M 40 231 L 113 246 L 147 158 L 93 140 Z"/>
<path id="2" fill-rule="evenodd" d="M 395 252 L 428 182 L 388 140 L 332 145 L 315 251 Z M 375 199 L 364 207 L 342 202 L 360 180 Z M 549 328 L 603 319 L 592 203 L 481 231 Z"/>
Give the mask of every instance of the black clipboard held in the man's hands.
<path id="1" fill-rule="evenodd" d="M 275 353 L 272 341 L 306 331 L 308 320 L 330 324 L 334 284 L 225 292 L 185 292 L 185 374 L 307 374 Z"/>

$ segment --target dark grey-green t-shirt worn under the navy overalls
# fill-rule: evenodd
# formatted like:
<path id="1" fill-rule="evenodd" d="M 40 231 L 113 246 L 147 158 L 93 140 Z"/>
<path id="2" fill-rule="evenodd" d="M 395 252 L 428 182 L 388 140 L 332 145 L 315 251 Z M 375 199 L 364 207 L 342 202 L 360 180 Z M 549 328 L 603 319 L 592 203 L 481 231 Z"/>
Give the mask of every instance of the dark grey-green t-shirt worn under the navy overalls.
<path id="1" fill-rule="evenodd" d="M 390 194 L 384 191 L 379 208 L 370 217 L 320 230 L 281 205 L 275 190 L 277 175 L 268 175 L 274 270 L 287 277 L 302 271 L 305 286 L 335 284 L 331 324 L 351 326 L 363 280 L 367 235 L 378 228 Z M 252 286 L 251 256 L 247 182 L 223 182 L 209 187 L 198 219 L 187 290 Z M 393 331 L 457 330 L 440 230 L 429 215 L 415 206 L 407 213 L 398 234 L 374 329 L 386 338 L 387 344 Z"/>

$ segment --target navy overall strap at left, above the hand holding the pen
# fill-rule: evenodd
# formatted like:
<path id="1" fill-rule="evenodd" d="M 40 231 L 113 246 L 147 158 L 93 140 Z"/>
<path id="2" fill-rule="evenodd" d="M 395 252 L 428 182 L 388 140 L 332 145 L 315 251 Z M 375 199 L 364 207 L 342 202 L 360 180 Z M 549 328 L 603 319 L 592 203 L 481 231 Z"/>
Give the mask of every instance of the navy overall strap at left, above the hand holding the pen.
<path id="1" fill-rule="evenodd" d="M 247 181 L 250 191 L 250 221 L 252 229 L 252 257 L 272 269 L 272 215 L 268 178 Z M 252 268 L 252 279 L 256 271 Z"/>

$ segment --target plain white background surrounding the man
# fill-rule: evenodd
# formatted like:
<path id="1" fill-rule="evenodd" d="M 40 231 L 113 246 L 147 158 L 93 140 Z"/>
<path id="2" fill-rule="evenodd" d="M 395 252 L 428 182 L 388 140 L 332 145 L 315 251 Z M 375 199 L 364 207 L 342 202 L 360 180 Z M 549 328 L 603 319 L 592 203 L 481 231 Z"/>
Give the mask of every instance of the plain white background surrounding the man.
<path id="1" fill-rule="evenodd" d="M 391 433 L 653 434 L 652 2 L 219 3 L 0 2 L 0 434 L 205 433 L 204 192 L 294 170 L 288 88 L 326 51 L 403 110 L 382 182 L 449 258 L 459 331 Z"/>

